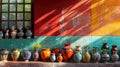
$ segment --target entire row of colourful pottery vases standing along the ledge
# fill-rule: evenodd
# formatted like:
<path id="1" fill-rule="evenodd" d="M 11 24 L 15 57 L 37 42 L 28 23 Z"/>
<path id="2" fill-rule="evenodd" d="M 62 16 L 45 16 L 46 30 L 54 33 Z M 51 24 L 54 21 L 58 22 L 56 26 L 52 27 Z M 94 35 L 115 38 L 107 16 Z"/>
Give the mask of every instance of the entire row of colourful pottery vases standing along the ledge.
<path id="1" fill-rule="evenodd" d="M 0 51 L 0 59 L 1 61 L 7 61 L 8 54 L 11 54 L 12 60 L 17 61 L 20 54 L 25 61 L 29 61 L 31 56 L 34 61 L 44 61 L 44 62 L 117 62 L 119 60 L 118 48 L 116 45 L 112 45 L 111 55 L 110 48 L 107 43 L 103 43 L 101 47 L 101 52 L 98 47 L 94 46 L 92 51 L 89 52 L 89 46 L 86 45 L 82 48 L 80 46 L 76 46 L 73 50 L 71 48 L 71 44 L 65 44 L 62 50 L 59 48 L 54 48 L 50 50 L 50 48 L 43 48 L 39 53 L 38 49 L 34 50 L 32 54 L 29 50 L 23 50 L 20 52 L 19 49 L 13 49 L 11 53 L 7 49 L 1 49 Z"/>

